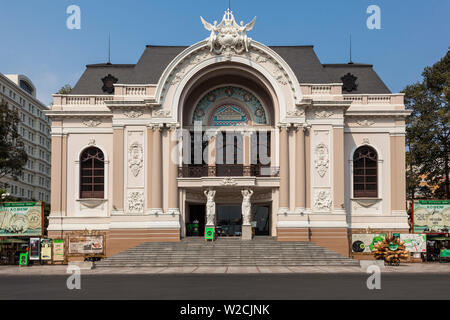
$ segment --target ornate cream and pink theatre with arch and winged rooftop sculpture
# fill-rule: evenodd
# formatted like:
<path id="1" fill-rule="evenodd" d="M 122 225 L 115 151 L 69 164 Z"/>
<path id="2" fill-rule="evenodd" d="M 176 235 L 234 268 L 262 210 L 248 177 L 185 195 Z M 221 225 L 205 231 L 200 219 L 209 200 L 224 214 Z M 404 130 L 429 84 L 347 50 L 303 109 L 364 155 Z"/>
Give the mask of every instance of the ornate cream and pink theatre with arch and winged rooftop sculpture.
<path id="1" fill-rule="evenodd" d="M 54 95 L 49 235 L 107 235 L 111 255 L 219 235 L 313 241 L 407 232 L 405 111 L 372 65 L 267 46 L 227 11 L 189 47 L 94 64 Z"/>

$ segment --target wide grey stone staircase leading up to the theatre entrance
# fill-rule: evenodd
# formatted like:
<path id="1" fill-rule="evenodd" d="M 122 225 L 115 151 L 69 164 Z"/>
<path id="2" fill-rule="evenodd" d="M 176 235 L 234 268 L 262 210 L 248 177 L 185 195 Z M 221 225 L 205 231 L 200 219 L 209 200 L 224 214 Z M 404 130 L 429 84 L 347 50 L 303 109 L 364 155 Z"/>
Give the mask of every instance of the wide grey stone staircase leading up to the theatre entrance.
<path id="1" fill-rule="evenodd" d="M 146 242 L 96 263 L 97 267 L 356 265 L 358 261 L 312 242 L 278 242 L 271 237 Z"/>

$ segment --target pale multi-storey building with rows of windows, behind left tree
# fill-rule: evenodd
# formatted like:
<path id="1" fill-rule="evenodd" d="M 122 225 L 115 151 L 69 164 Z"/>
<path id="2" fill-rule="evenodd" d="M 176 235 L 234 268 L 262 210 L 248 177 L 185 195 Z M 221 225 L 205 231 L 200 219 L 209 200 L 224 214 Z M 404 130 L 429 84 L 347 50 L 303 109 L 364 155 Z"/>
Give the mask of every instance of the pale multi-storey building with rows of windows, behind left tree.
<path id="1" fill-rule="evenodd" d="M 20 118 L 18 130 L 25 144 L 28 162 L 17 180 L 0 179 L 14 197 L 50 202 L 51 136 L 48 108 L 36 99 L 36 88 L 31 80 L 19 74 L 0 73 L 0 101 L 15 109 Z"/>

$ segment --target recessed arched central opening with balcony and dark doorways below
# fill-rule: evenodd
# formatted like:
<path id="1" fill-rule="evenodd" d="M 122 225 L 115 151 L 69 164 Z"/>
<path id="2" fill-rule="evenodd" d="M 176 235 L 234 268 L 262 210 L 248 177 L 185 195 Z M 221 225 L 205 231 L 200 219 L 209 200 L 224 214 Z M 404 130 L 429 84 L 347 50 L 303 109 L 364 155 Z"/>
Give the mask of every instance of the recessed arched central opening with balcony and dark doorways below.
<path id="1" fill-rule="evenodd" d="M 250 72 L 240 65 L 220 70 L 214 67 L 203 70 L 182 95 L 179 118 L 184 130 L 183 164 L 179 178 L 186 179 L 182 216 L 187 225 L 205 220 L 199 219 L 205 214 L 199 205 L 206 200 L 202 191 L 214 188 L 217 233 L 240 236 L 241 191 L 251 189 L 255 195 L 251 210 L 253 234 L 272 234 L 273 188 L 261 187 L 254 181 L 277 175 L 272 170 L 277 163 L 272 148 L 278 134 L 275 123 L 279 112 L 274 90 L 260 77 L 257 71 Z M 223 180 L 217 185 L 219 179 Z"/>

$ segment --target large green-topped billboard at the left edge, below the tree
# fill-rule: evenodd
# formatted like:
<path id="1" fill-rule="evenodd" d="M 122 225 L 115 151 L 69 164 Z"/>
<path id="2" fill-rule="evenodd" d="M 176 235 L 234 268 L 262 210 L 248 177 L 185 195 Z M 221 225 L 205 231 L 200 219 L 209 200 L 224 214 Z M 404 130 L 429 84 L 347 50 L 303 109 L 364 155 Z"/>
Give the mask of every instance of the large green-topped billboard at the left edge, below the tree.
<path id="1" fill-rule="evenodd" d="M 43 220 L 42 202 L 0 203 L 0 237 L 41 237 Z"/>

